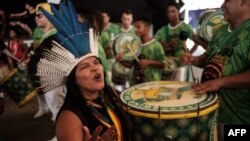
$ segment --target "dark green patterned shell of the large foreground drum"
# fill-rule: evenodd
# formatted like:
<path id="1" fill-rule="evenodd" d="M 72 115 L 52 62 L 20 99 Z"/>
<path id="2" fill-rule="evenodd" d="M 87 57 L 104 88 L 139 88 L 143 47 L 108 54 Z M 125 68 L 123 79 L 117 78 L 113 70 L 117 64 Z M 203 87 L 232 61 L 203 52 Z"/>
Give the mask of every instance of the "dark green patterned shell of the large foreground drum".
<path id="1" fill-rule="evenodd" d="M 215 105 L 217 107 L 217 105 Z M 127 107 L 124 107 L 127 109 Z M 187 117 L 181 115 L 179 119 L 161 119 L 159 118 L 138 116 L 138 111 L 128 111 L 131 126 L 131 139 L 135 141 L 144 141 L 145 137 L 150 141 L 165 140 L 186 140 L 186 141 L 208 141 L 216 138 L 215 128 L 217 119 L 217 110 L 199 117 Z M 165 117 L 168 115 L 165 114 Z M 172 114 L 169 117 L 173 116 Z M 199 132 L 197 132 L 199 130 Z"/>

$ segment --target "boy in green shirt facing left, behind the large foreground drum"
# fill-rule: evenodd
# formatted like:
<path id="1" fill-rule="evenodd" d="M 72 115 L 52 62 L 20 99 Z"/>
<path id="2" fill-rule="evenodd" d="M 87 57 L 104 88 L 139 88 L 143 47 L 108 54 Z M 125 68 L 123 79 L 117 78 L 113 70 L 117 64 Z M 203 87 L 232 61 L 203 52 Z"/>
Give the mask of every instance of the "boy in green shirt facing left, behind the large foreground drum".
<path id="1" fill-rule="evenodd" d="M 127 67 L 133 67 L 129 79 L 130 86 L 142 82 L 161 80 L 161 70 L 164 68 L 163 60 L 165 53 L 161 44 L 149 35 L 151 21 L 146 17 L 140 17 L 135 21 L 136 34 L 140 37 L 141 53 L 131 63 L 121 61 L 121 54 L 116 60 Z M 135 54 L 134 54 L 135 55 Z"/>

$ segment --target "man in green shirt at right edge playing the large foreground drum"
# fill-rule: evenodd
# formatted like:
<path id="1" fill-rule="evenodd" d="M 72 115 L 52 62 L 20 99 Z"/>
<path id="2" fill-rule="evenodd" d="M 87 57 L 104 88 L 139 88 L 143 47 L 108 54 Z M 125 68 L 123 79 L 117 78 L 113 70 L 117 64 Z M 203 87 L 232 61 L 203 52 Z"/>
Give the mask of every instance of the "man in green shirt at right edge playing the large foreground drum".
<path id="1" fill-rule="evenodd" d="M 219 94 L 223 140 L 224 124 L 250 124 L 250 0 L 225 0 L 221 7 L 229 24 L 215 32 L 203 55 L 187 53 L 183 61 L 204 67 L 202 83 L 194 91 Z"/>

